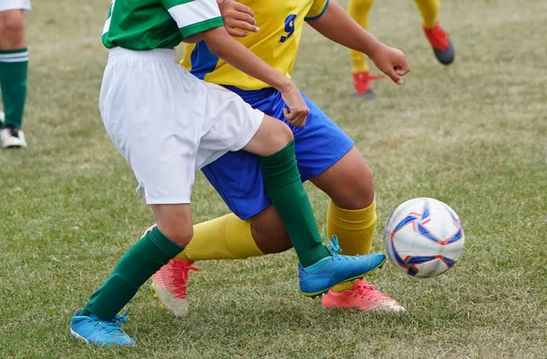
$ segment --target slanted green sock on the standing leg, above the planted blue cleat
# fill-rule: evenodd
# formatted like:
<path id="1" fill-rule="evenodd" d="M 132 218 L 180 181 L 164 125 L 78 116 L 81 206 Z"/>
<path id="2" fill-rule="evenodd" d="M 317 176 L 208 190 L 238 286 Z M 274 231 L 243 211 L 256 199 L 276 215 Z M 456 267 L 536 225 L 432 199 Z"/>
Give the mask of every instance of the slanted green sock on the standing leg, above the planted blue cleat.
<path id="1" fill-rule="evenodd" d="M 114 318 L 140 286 L 182 250 L 154 227 L 126 251 L 80 315 L 94 313 L 103 320 Z"/>

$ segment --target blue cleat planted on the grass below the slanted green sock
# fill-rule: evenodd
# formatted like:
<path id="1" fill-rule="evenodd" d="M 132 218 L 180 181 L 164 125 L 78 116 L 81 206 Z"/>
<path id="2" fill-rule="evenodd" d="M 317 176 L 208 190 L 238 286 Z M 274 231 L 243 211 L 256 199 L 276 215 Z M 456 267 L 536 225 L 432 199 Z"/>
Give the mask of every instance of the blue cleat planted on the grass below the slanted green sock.
<path id="1" fill-rule="evenodd" d="M 135 345 L 135 341 L 119 328 L 119 324 L 128 321 L 126 312 L 124 315 L 116 315 L 114 319 L 103 321 L 94 314 L 80 315 L 78 309 L 70 320 L 70 334 L 88 344 L 101 346 L 125 346 Z"/>

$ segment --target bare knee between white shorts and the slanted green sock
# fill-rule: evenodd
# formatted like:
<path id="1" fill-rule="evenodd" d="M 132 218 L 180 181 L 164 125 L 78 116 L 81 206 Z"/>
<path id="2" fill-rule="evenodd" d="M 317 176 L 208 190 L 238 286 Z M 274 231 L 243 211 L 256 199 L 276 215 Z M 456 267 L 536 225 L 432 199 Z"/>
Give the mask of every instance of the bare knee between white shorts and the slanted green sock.
<path id="1" fill-rule="evenodd" d="M 153 204 L 158 229 L 175 243 L 186 246 L 193 236 L 190 204 Z"/>

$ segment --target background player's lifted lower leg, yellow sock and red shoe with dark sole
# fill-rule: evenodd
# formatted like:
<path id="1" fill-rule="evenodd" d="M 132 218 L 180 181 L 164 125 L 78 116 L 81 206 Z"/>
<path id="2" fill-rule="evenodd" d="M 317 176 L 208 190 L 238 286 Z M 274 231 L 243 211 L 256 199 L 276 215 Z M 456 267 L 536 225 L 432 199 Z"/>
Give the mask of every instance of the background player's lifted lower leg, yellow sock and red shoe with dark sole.
<path id="1" fill-rule="evenodd" d="M 449 34 L 439 26 L 439 0 L 414 0 L 423 18 L 423 28 L 429 44 L 433 47 L 435 57 L 443 65 L 454 61 L 454 46 Z"/>

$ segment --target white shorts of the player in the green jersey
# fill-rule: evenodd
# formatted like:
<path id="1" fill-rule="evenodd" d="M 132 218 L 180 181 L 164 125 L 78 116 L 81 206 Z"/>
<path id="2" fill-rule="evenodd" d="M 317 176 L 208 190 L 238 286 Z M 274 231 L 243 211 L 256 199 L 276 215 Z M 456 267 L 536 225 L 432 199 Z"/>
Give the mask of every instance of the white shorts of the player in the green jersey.
<path id="1" fill-rule="evenodd" d="M 195 172 L 242 149 L 264 117 L 191 75 L 170 49 L 111 49 L 98 107 L 149 204 L 190 203 Z"/>

